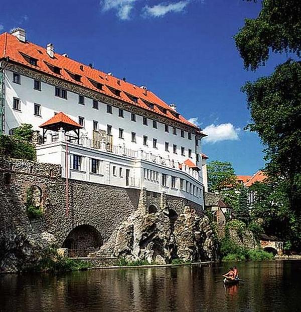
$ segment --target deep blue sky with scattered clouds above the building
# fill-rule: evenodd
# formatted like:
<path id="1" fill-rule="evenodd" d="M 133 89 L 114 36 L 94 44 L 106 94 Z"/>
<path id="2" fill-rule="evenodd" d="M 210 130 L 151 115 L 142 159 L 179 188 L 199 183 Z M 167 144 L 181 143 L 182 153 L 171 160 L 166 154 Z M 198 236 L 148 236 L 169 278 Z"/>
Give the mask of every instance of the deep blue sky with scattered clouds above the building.
<path id="1" fill-rule="evenodd" d="M 270 74 L 285 56 L 247 72 L 233 35 L 260 4 L 242 0 L 3 1 L 0 31 L 27 30 L 28 40 L 116 77 L 146 85 L 205 129 L 203 152 L 232 162 L 237 174 L 264 165 L 240 87 Z"/>

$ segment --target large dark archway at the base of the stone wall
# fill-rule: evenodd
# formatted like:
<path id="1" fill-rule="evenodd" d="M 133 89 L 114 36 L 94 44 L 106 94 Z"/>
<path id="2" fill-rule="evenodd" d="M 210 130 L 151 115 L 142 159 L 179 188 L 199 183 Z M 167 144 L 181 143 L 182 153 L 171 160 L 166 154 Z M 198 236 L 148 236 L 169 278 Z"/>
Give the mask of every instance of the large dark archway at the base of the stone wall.
<path id="1" fill-rule="evenodd" d="M 99 231 L 91 225 L 79 225 L 66 237 L 63 248 L 68 248 L 71 257 L 86 257 L 103 244 Z"/>

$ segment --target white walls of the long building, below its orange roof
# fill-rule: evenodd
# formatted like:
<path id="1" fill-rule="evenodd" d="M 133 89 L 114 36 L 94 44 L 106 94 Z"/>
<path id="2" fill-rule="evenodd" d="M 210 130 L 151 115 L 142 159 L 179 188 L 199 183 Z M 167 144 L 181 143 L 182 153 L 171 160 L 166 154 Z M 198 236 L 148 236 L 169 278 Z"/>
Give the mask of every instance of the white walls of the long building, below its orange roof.
<path id="1" fill-rule="evenodd" d="M 56 86 L 43 81 L 40 82 L 40 90 L 35 90 L 33 78 L 16 74 L 20 75 L 18 83 L 14 82 L 14 72 L 4 71 L 5 133 L 9 134 L 21 123 L 32 124 L 34 130 L 42 133 L 39 126 L 60 111 L 76 122 L 83 118 L 80 144 L 68 143 L 67 165 L 63 133 L 59 139 L 57 133 L 48 134 L 46 143 L 37 147 L 38 161 L 62 165 L 63 177 L 68 173 L 71 179 L 118 187 L 145 187 L 149 191 L 166 192 L 203 205 L 204 170 L 193 170 L 185 165 L 182 170 L 179 168 L 179 164 L 191 159 L 201 167 L 203 164 L 204 169 L 201 142 L 196 140 L 193 131 L 183 132 L 175 122 L 176 134 L 171 126 L 167 132 L 164 123 L 149 118 L 144 125 L 145 116 L 135 114 L 133 121 L 131 112 L 120 112 L 119 108 L 112 106 L 109 113 L 107 104 L 102 102 L 98 102 L 98 109 L 93 108 L 93 98 L 84 97 L 84 104 L 79 104 L 79 96 L 82 95 L 71 91 L 67 91 L 67 99 L 60 98 L 55 96 Z M 108 126 L 111 126 L 112 152 L 105 147 L 93 148 L 93 130 L 107 132 Z M 74 155 L 80 156 L 80 166 L 76 169 Z M 91 170 L 92 159 L 97 160 L 96 173 Z M 207 175 L 204 178 L 207 184 Z"/>

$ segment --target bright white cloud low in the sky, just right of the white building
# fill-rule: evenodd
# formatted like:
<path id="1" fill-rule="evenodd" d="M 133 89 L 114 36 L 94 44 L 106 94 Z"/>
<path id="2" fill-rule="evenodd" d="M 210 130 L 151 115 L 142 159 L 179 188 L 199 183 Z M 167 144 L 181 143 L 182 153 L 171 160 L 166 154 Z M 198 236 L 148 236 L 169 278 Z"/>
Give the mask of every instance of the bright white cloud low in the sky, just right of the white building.
<path id="1" fill-rule="evenodd" d="M 208 137 L 204 138 L 204 142 L 216 143 L 226 140 L 239 140 L 239 131 L 240 128 L 235 128 L 231 123 L 227 123 L 220 125 L 211 124 L 203 129 L 202 132 L 208 135 Z"/>

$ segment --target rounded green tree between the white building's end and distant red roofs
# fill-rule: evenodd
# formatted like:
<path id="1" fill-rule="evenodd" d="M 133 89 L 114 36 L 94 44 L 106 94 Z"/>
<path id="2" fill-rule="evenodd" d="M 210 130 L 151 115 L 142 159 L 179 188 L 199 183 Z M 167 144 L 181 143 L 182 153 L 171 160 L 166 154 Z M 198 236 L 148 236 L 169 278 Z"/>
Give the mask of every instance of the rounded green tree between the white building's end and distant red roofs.
<path id="1" fill-rule="evenodd" d="M 208 189 L 210 192 L 221 192 L 236 185 L 236 176 L 230 162 L 210 161 L 207 165 Z"/>

